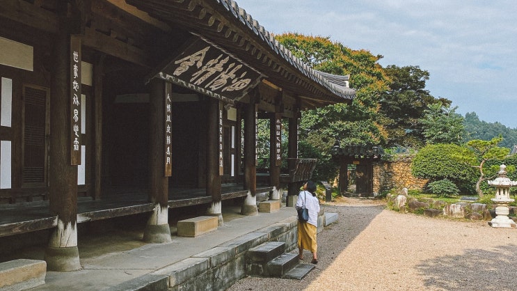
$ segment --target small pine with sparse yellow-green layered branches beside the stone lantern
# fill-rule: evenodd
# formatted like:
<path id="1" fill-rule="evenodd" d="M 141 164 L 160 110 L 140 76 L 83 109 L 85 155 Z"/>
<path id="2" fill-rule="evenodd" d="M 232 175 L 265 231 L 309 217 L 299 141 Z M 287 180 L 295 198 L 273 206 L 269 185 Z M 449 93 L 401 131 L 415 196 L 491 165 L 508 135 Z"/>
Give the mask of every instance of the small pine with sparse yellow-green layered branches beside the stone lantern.
<path id="1" fill-rule="evenodd" d="M 473 156 L 459 156 L 460 161 L 466 162 L 473 168 L 477 168 L 479 171 L 479 178 L 476 182 L 476 192 L 477 195 L 479 195 L 479 198 L 484 196 L 481 189 L 481 183 L 488 179 L 494 178 L 499 169 L 498 165 L 486 167 L 486 162 L 491 160 L 502 160 L 508 155 L 508 148 L 500 148 L 498 146 L 498 143 L 501 141 L 501 136 L 495 137 L 490 141 L 482 141 L 480 139 L 468 141 L 467 146 L 471 150 Z"/>

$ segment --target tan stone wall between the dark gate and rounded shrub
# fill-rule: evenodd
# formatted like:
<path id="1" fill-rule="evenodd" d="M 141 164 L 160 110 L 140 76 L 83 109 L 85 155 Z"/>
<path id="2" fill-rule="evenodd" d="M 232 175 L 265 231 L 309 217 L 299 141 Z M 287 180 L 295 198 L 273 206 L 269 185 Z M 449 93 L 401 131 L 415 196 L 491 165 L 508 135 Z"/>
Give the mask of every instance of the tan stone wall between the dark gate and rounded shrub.
<path id="1" fill-rule="evenodd" d="M 389 162 L 374 163 L 373 191 L 376 194 L 390 189 L 424 189 L 427 179 L 419 179 L 411 175 L 411 155 L 395 157 Z"/>

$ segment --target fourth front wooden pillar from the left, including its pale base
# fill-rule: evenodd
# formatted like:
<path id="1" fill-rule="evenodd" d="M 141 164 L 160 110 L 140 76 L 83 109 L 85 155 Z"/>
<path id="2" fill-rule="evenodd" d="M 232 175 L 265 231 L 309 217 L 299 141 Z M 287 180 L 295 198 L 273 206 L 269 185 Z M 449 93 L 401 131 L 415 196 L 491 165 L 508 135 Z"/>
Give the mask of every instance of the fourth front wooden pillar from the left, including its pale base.
<path id="1" fill-rule="evenodd" d="M 256 166 L 256 139 L 257 139 L 257 104 L 255 97 L 250 95 L 250 102 L 244 112 L 244 187 L 248 196 L 241 207 L 241 214 L 257 215 L 257 166 Z"/>

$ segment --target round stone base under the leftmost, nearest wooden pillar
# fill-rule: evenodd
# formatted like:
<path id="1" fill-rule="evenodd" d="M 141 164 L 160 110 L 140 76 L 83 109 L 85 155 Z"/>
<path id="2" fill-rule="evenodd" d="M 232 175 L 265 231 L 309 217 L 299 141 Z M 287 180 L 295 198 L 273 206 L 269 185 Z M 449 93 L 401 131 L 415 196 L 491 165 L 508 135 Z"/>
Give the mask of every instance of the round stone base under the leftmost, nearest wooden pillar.
<path id="1" fill-rule="evenodd" d="M 45 261 L 47 262 L 48 271 L 71 272 L 82 269 L 77 246 L 63 248 L 47 246 L 47 249 L 45 249 Z"/>

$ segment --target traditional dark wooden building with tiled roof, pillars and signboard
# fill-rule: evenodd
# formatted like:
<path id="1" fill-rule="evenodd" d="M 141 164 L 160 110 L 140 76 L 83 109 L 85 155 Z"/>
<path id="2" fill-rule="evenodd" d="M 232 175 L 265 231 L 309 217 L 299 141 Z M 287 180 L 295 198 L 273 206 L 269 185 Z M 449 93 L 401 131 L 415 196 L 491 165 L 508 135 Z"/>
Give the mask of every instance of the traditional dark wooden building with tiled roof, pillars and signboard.
<path id="1" fill-rule="evenodd" d="M 301 111 L 355 95 L 232 0 L 4 0 L 0 79 L 0 239 L 51 229 L 62 271 L 80 267 L 77 223 L 149 212 L 144 239 L 166 242 L 169 209 L 223 223 L 223 200 L 253 215 L 257 193 L 296 190 L 314 164 L 297 159 Z"/>

